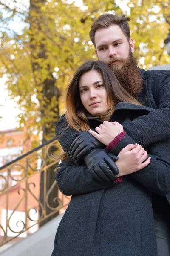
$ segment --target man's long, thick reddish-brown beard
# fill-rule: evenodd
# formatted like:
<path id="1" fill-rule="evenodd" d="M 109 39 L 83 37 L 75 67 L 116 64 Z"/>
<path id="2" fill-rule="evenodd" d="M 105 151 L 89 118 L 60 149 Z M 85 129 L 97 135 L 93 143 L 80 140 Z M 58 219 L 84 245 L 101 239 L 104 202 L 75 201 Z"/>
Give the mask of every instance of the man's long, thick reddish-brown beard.
<path id="1" fill-rule="evenodd" d="M 119 61 L 122 63 L 122 67 L 119 67 L 117 64 L 112 64 L 112 61 Z M 114 57 L 106 64 L 111 67 L 119 83 L 131 96 L 136 97 L 136 94 L 141 92 L 143 87 L 142 76 L 131 50 L 129 51 L 129 57 L 127 59 Z"/>

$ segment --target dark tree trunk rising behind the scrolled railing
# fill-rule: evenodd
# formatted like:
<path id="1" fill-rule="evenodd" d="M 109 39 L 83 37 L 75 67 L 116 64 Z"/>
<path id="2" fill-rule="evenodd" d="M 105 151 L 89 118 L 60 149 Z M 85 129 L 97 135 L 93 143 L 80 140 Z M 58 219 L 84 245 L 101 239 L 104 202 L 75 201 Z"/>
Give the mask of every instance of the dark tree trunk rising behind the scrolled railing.
<path id="1" fill-rule="evenodd" d="M 31 49 L 31 61 L 32 61 L 32 69 L 34 73 L 34 81 L 36 85 L 36 89 L 38 94 L 41 94 L 40 97 L 42 100 L 40 103 L 40 112 L 41 117 L 45 120 L 46 117 L 52 116 L 53 118 L 50 121 L 44 121 L 42 131 L 43 131 L 43 140 L 42 143 L 50 140 L 55 137 L 54 128 L 59 119 L 59 90 L 55 85 L 55 79 L 52 76 L 52 70 L 50 68 L 50 64 L 46 64 L 47 60 L 47 50 L 45 47 L 45 38 L 42 38 L 42 26 L 45 25 L 45 19 L 43 13 L 41 12 L 41 7 L 45 4 L 45 0 L 30 0 L 30 11 L 29 11 L 29 21 L 30 21 L 30 49 Z M 54 24 L 55 26 L 55 24 Z M 48 32 L 47 32 L 48 33 Z M 40 34 L 40 39 L 39 39 Z M 52 52 L 51 52 L 52 54 Z M 48 52 L 49 55 L 49 52 Z M 45 73 L 47 73 L 47 78 L 45 80 L 42 79 L 42 66 L 40 65 L 45 63 Z M 54 106 L 54 102 L 56 102 Z M 52 104 L 53 103 L 53 104 Z M 51 153 L 53 153 L 56 148 L 51 147 Z M 51 160 L 47 159 L 47 165 Z M 54 183 L 54 169 L 57 167 L 52 166 L 47 170 L 47 182 L 44 184 L 44 172 L 41 173 L 41 183 L 40 183 L 40 201 L 44 205 L 44 201 L 46 201 L 46 195 L 48 190 L 51 188 Z M 44 195 L 44 186 L 46 187 L 46 195 Z M 57 184 L 50 193 L 48 198 L 48 204 L 50 207 L 57 207 L 58 202 L 54 202 L 54 198 L 58 195 L 58 187 Z M 45 204 L 46 215 L 52 212 L 51 209 L 47 207 Z M 58 215 L 58 212 L 55 215 L 52 215 L 50 218 L 45 219 L 40 223 L 40 226 L 54 218 Z M 40 207 L 40 216 L 43 216 L 42 209 Z"/>

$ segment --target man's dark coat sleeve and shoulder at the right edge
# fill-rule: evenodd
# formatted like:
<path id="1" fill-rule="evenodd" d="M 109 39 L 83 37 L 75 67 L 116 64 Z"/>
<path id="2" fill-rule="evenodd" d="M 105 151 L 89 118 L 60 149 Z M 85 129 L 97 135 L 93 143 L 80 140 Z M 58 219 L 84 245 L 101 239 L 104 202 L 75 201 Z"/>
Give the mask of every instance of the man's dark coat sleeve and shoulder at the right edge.
<path id="1" fill-rule="evenodd" d="M 155 101 L 156 109 L 123 125 L 124 131 L 142 147 L 170 139 L 170 71 L 164 70 L 156 83 L 154 88 L 147 88 L 154 97 L 150 104 Z"/>

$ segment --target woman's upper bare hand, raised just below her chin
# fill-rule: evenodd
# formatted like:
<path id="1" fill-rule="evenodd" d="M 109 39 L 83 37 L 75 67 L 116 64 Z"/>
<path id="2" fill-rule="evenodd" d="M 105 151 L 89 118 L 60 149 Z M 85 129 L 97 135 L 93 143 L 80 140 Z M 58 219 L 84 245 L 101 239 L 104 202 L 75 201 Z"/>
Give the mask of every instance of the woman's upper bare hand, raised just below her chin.
<path id="1" fill-rule="evenodd" d="M 104 121 L 99 127 L 97 126 L 95 130 L 96 132 L 90 129 L 88 132 L 97 140 L 108 146 L 109 143 L 123 131 L 123 126 L 118 122 Z"/>

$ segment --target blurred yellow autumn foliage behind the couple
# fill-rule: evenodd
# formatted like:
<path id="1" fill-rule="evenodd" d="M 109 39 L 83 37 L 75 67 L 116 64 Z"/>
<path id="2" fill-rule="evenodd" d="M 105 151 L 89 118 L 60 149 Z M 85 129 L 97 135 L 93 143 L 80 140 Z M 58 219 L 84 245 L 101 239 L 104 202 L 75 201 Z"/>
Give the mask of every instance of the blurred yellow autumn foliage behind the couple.
<path id="1" fill-rule="evenodd" d="M 97 59 L 88 33 L 99 15 L 124 13 L 131 18 L 139 67 L 170 62 L 164 46 L 170 27 L 168 0 L 31 0 L 29 6 L 24 3 L 0 1 L 0 76 L 8 77 L 9 95 L 22 110 L 18 116 L 20 125 L 27 125 L 29 136 L 41 131 L 43 141 L 55 136 L 55 124 L 65 112 L 69 79 L 84 61 Z"/>

